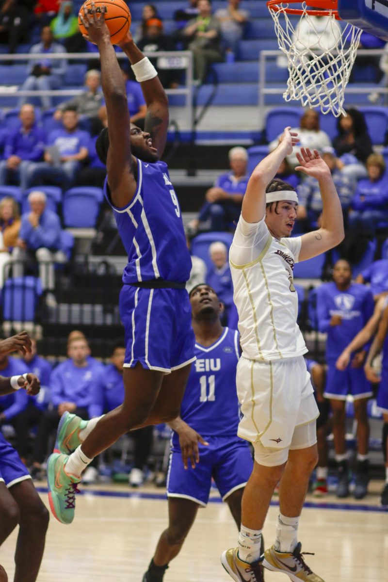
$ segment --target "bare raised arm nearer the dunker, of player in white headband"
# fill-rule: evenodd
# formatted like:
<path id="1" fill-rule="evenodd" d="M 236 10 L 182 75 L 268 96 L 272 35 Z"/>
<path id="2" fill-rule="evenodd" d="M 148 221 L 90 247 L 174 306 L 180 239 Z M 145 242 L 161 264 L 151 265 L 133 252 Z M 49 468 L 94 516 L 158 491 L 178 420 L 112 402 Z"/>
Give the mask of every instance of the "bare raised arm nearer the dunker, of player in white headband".
<path id="1" fill-rule="evenodd" d="M 276 175 L 286 155 L 292 154 L 293 146 L 298 141 L 298 134 L 291 133 L 290 129 L 291 127 L 284 129 L 275 150 L 262 159 L 248 180 L 241 207 L 241 215 L 246 222 L 259 222 L 265 216 L 265 189 Z"/>

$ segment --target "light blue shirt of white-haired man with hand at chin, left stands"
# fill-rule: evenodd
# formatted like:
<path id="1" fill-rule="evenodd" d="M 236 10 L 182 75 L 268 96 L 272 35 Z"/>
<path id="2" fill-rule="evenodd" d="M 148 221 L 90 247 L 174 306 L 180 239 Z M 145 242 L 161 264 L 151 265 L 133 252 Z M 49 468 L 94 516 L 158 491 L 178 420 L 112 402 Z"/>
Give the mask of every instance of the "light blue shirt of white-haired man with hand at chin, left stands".
<path id="1" fill-rule="evenodd" d="M 27 243 L 29 250 L 45 249 L 60 250 L 60 222 L 55 212 L 45 208 L 39 217 L 39 225 L 33 228 L 29 221 L 29 212 L 22 215 L 19 237 Z"/>

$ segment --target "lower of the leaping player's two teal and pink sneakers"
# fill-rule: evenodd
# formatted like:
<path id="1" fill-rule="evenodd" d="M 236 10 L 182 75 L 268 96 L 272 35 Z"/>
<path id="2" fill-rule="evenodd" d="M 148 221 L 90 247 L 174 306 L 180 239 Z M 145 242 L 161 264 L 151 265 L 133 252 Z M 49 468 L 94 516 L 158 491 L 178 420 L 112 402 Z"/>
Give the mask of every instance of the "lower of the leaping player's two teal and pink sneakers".
<path id="1" fill-rule="evenodd" d="M 65 467 L 68 455 L 52 453 L 47 462 L 48 501 L 52 514 L 60 523 L 69 524 L 74 519 L 77 485 L 80 478 L 68 475 Z"/>

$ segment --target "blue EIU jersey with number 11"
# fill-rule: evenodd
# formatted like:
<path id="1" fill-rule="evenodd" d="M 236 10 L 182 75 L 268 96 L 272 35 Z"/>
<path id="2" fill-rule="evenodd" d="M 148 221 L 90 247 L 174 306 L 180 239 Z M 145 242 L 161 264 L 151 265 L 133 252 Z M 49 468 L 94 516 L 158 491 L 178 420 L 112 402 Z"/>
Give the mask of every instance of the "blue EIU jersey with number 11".
<path id="1" fill-rule="evenodd" d="M 240 422 L 236 368 L 240 359 L 239 332 L 224 328 L 212 346 L 195 344 L 197 360 L 191 365 L 180 416 L 207 437 L 237 435 Z M 179 443 L 176 433 L 173 445 Z"/>

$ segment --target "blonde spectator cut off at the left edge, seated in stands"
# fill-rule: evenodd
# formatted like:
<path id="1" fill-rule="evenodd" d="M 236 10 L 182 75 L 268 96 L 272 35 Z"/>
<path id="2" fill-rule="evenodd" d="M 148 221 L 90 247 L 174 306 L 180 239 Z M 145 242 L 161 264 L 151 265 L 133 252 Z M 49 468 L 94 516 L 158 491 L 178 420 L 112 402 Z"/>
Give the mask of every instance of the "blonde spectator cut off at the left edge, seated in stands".
<path id="1" fill-rule="evenodd" d="M 12 260 L 11 253 L 19 238 L 19 205 L 8 196 L 0 201 L 0 289 L 6 278 L 5 265 Z"/>

